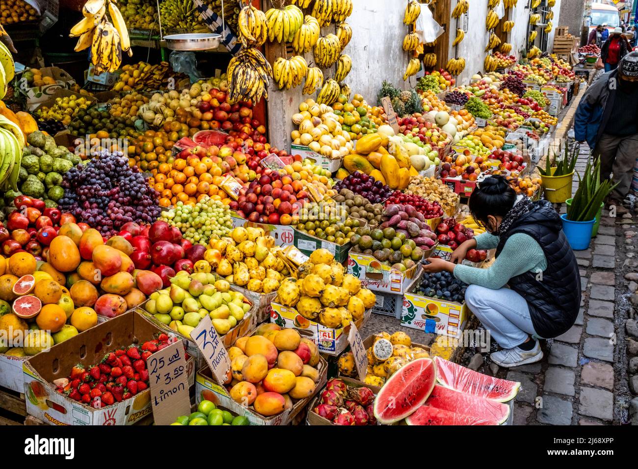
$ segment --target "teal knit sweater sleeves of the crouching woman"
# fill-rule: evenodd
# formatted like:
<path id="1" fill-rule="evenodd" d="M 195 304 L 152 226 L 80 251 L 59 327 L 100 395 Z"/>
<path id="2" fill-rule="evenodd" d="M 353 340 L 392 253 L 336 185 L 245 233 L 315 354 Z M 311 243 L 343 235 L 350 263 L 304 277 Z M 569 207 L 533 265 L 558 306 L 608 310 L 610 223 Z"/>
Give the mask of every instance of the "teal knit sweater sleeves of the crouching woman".
<path id="1" fill-rule="evenodd" d="M 498 246 L 499 238 L 488 232 L 476 236 L 477 249 L 493 249 Z M 533 237 L 524 233 L 511 235 L 500 255 L 489 269 L 477 269 L 469 265 L 458 264 L 454 267 L 454 276 L 469 285 L 498 288 L 505 287 L 510 278 L 524 272 L 542 272 L 547 269 L 545 253 Z"/>

